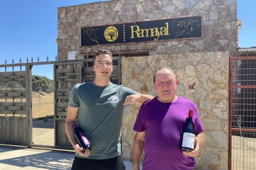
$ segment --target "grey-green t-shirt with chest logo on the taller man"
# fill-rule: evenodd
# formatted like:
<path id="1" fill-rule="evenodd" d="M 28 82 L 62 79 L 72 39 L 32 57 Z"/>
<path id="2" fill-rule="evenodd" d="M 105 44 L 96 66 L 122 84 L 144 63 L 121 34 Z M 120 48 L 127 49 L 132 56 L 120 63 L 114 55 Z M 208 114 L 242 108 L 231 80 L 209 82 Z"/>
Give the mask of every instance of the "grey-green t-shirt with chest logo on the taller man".
<path id="1" fill-rule="evenodd" d="M 70 92 L 69 107 L 79 107 L 78 126 L 88 133 L 92 144 L 90 159 L 109 159 L 121 154 L 121 127 L 124 101 L 137 94 L 127 87 L 110 83 L 96 86 L 91 81 L 77 84 Z"/>

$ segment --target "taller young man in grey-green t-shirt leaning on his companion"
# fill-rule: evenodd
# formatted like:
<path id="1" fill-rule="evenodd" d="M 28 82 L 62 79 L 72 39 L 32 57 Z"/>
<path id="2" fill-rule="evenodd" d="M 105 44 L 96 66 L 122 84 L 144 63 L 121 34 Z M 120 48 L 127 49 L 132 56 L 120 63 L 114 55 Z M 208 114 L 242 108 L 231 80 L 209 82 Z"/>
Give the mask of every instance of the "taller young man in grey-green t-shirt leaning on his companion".
<path id="1" fill-rule="evenodd" d="M 75 85 L 69 96 L 65 128 L 75 149 L 72 169 L 125 169 L 120 143 L 124 105 L 142 104 L 153 96 L 109 81 L 113 71 L 111 52 L 96 52 L 93 63 L 95 80 Z M 83 153 L 75 140 L 72 123 L 76 119 L 79 129 L 88 133 L 92 152 Z"/>

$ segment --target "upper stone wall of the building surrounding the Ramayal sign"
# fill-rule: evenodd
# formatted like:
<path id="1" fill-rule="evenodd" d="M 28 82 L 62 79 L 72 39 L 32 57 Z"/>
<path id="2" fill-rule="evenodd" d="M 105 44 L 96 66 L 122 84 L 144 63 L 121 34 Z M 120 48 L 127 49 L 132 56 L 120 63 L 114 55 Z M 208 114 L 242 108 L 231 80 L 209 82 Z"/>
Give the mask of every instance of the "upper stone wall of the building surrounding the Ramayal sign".
<path id="1" fill-rule="evenodd" d="M 202 38 L 80 46 L 80 28 L 164 18 L 202 16 Z M 236 0 L 121 0 L 58 8 L 58 59 L 77 51 L 79 59 L 100 48 L 114 54 L 186 54 L 236 51 Z"/>

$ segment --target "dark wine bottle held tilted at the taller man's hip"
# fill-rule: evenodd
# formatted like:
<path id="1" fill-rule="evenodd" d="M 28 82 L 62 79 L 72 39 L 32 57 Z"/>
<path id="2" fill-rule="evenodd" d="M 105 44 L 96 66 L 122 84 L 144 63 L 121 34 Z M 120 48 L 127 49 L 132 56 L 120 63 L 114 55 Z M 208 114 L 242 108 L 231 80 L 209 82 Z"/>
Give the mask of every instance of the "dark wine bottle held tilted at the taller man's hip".
<path id="1" fill-rule="evenodd" d="M 83 131 L 81 131 L 78 127 L 77 124 L 75 124 L 74 122 L 72 123 L 72 126 L 74 128 L 75 131 L 75 138 L 77 139 L 77 142 L 79 142 L 80 147 L 83 148 L 83 152 L 85 152 L 85 150 L 90 150 L 90 152 L 92 151 L 92 145 L 90 144 L 89 140 L 85 137 L 85 133 Z"/>

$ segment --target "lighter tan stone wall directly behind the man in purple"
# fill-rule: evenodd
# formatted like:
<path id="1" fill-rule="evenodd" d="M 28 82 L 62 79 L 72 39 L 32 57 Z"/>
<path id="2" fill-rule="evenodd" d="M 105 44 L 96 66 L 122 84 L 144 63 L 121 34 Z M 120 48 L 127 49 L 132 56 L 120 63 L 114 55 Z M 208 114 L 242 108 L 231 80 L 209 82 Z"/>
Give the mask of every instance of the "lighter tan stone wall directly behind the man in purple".
<path id="1" fill-rule="evenodd" d="M 179 79 L 177 94 L 193 100 L 205 127 L 206 142 L 197 158 L 197 169 L 228 169 L 228 70 L 229 52 L 127 57 L 122 59 L 122 84 L 145 94 L 155 94 L 153 76 L 171 67 Z M 139 106 L 125 109 L 123 154 L 131 159 Z M 171 145 L 171 144 L 170 144 Z"/>

